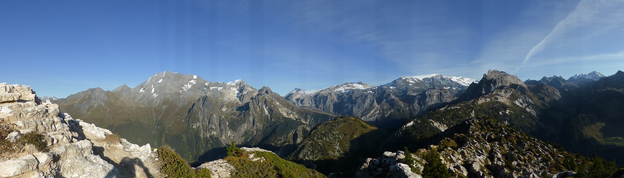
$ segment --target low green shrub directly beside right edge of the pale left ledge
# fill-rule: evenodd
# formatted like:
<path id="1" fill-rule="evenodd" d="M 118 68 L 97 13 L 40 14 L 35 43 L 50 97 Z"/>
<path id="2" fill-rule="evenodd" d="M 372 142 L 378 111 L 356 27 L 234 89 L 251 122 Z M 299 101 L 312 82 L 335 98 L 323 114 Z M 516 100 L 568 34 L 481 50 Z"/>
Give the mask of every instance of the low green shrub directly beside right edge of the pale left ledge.
<path id="1" fill-rule="evenodd" d="M 157 154 L 161 163 L 160 172 L 167 177 L 210 177 L 210 170 L 198 169 L 195 171 L 169 146 L 159 147 Z"/>

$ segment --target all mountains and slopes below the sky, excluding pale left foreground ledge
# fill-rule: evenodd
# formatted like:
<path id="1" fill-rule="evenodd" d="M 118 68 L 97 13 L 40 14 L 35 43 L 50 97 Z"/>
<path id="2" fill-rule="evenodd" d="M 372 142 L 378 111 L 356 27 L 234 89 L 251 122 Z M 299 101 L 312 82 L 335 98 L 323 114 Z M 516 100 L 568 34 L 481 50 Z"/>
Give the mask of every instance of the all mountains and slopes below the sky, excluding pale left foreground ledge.
<path id="1" fill-rule="evenodd" d="M 414 170 L 428 167 L 426 152 L 441 154 L 452 177 L 542 177 L 590 174 L 571 165 L 596 166 L 597 156 L 585 157 L 592 154 L 624 162 L 622 99 L 622 71 L 524 82 L 495 70 L 479 81 L 431 74 L 381 86 L 295 89 L 284 97 L 241 80 L 165 71 L 134 88 L 89 89 L 53 102 L 128 141 L 169 145 L 192 163 L 225 157 L 235 141 L 329 177 L 419 177 Z M 506 144 L 512 137 L 541 149 L 517 151 Z M 493 147 L 499 154 L 492 156 Z M 420 163 L 403 162 L 406 156 Z"/>

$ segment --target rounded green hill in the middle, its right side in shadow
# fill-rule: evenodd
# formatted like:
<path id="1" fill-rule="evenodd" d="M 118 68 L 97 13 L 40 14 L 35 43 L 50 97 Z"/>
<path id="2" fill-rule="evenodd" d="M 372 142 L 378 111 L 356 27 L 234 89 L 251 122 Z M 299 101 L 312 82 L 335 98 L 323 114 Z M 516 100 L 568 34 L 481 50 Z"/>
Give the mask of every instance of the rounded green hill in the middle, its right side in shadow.
<path id="1" fill-rule="evenodd" d="M 323 122 L 310 132 L 286 159 L 328 175 L 342 172 L 353 176 L 366 157 L 377 154 L 388 131 L 378 129 L 357 117 L 343 116 Z"/>

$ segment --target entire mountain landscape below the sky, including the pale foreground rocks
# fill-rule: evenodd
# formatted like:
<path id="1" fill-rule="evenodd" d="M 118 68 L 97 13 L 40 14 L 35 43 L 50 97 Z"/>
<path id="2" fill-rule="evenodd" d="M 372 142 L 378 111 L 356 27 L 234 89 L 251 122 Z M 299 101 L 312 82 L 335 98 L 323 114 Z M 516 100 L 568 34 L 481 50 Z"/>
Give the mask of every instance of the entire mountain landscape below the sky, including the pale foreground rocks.
<path id="1" fill-rule="evenodd" d="M 624 177 L 622 71 L 286 96 L 168 71 L 61 99 L 0 86 L 0 177 Z"/>

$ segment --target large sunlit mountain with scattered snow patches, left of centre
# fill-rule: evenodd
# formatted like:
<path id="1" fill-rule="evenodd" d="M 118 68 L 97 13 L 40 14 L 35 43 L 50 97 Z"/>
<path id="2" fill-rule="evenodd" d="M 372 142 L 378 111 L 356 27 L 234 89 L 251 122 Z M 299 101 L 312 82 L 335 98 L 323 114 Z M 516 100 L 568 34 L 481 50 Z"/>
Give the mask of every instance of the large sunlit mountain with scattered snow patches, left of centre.
<path id="1" fill-rule="evenodd" d="M 168 144 L 189 161 L 222 157 L 231 141 L 288 154 L 313 126 L 334 117 L 295 107 L 268 87 L 166 71 L 134 88 L 89 89 L 56 103 L 129 141 Z"/>

